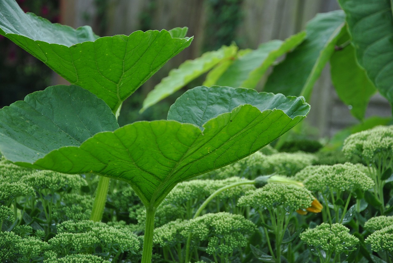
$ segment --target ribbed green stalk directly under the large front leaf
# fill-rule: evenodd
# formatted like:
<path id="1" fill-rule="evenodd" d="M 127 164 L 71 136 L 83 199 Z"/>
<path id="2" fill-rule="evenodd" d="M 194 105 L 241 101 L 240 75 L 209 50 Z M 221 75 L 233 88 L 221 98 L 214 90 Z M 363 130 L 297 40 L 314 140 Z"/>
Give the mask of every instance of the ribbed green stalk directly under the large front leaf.
<path id="1" fill-rule="evenodd" d="M 151 205 L 146 207 L 145 236 L 143 237 L 143 250 L 141 263 L 151 263 L 153 251 L 154 215 L 156 208 Z"/>

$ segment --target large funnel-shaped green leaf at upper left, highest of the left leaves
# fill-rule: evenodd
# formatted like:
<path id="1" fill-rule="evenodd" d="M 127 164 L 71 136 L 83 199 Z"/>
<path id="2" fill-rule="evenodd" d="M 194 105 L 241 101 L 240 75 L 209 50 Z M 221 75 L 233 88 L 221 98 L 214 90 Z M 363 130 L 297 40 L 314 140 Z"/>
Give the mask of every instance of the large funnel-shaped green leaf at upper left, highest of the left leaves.
<path id="1" fill-rule="evenodd" d="M 93 92 L 112 111 L 192 40 L 165 30 L 97 39 L 90 27 L 73 29 L 25 14 L 15 0 L 0 1 L 0 34 Z"/>

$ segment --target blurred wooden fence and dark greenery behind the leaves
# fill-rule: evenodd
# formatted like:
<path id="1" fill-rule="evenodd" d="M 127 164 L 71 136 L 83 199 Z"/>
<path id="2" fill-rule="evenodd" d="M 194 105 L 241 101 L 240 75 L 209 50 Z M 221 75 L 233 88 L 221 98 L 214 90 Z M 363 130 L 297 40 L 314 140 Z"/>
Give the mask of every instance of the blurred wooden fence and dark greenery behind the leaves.
<path id="1" fill-rule="evenodd" d="M 169 106 L 185 89 L 139 114 L 147 93 L 167 76 L 169 70 L 205 51 L 235 42 L 252 48 L 268 40 L 285 38 L 305 29 L 317 13 L 339 9 L 336 0 L 17 0 L 25 12 L 33 12 L 51 22 L 77 28 L 92 26 L 100 36 L 129 35 L 136 30 L 189 28 L 194 40 L 153 75 L 124 103 L 120 126 L 139 120 L 166 119 Z M 187 88 L 200 86 L 196 79 Z M 10 40 L 0 36 L 0 108 L 47 86 L 68 84 L 45 64 Z M 337 131 L 359 123 L 351 116 L 331 84 L 329 65 L 316 82 L 309 101 L 311 111 L 303 131 L 307 138 L 329 138 Z M 370 101 L 369 116 L 391 116 L 385 98 L 376 94 Z"/>

